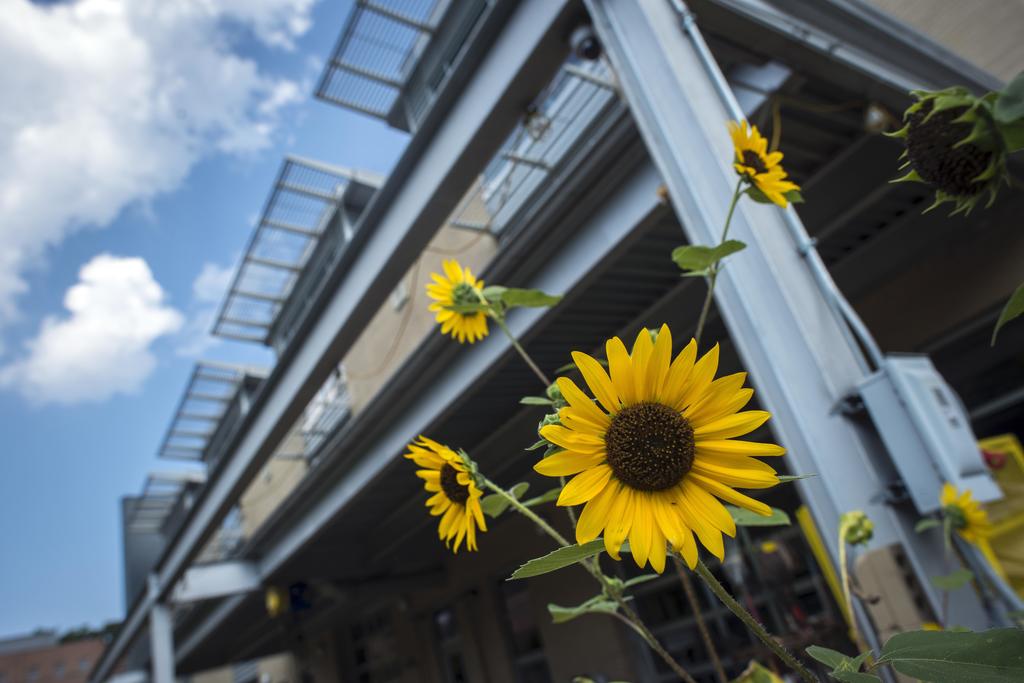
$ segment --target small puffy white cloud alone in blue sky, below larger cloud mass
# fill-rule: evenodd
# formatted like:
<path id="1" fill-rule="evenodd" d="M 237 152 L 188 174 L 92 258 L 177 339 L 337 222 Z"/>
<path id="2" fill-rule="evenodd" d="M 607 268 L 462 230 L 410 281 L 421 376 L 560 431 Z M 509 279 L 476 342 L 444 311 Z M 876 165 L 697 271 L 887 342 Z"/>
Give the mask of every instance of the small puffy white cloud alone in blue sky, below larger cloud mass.
<path id="1" fill-rule="evenodd" d="M 152 344 L 183 322 L 143 259 L 110 254 L 82 266 L 65 307 L 67 315 L 43 319 L 24 357 L 0 369 L 0 385 L 37 403 L 134 393 L 156 367 Z"/>

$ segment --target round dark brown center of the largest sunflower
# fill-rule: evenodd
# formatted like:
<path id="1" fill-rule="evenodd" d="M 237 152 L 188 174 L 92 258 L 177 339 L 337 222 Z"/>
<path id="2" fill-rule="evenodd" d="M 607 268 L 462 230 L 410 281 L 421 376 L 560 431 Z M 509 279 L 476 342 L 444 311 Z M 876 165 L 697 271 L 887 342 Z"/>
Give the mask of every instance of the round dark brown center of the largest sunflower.
<path id="1" fill-rule="evenodd" d="M 624 408 L 611 419 L 604 444 L 615 477 L 640 490 L 671 488 L 693 466 L 693 427 L 663 403 Z"/>

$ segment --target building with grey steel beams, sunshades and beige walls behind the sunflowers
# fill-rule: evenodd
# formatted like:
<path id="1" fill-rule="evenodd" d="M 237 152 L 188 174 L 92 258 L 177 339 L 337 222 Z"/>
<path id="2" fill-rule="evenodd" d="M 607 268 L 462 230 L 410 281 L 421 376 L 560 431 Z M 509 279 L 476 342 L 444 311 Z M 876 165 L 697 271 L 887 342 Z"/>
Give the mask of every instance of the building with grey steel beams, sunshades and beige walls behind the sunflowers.
<path id="1" fill-rule="evenodd" d="M 424 283 L 458 258 L 487 283 L 563 294 L 509 318 L 549 374 L 644 327 L 681 342 L 703 285 L 669 254 L 717 243 L 738 118 L 777 136 L 807 203 L 740 205 L 748 248 L 706 339 L 773 413 L 759 440 L 812 476 L 763 497 L 793 525 L 741 527 L 714 571 L 798 651 L 848 647 L 851 618 L 880 637 L 936 621 L 941 544 L 913 526 L 945 479 L 1001 498 L 975 440 L 1022 424 L 1024 331 L 988 342 L 1020 278 L 1024 200 L 923 215 L 930 190 L 889 182 L 900 147 L 881 132 L 910 89 L 981 91 L 999 80 L 978 65 L 1012 69 L 876 4 L 356 2 L 317 95 L 409 132 L 407 150 L 387 178 L 285 161 L 215 327 L 275 365 L 189 378 L 162 454 L 206 475 L 155 475 L 126 500 L 129 610 L 91 680 L 119 666 L 157 683 L 673 680 L 613 620 L 552 623 L 549 604 L 593 594 L 580 567 L 506 581 L 551 550 L 521 519 L 494 520 L 479 553 L 445 551 L 401 455 L 430 434 L 543 490 L 522 450 L 543 410 L 519 402 L 543 387 L 500 335 L 438 334 Z M 893 398 L 904 389 L 919 402 Z M 941 410 L 955 420 L 934 424 Z M 856 573 L 880 598 L 852 615 L 833 538 L 851 509 L 876 522 Z M 635 599 L 697 680 L 718 680 L 677 577 Z M 727 675 L 769 660 L 710 593 L 697 600 Z M 975 628 L 1006 612 L 966 591 L 948 609 Z"/>

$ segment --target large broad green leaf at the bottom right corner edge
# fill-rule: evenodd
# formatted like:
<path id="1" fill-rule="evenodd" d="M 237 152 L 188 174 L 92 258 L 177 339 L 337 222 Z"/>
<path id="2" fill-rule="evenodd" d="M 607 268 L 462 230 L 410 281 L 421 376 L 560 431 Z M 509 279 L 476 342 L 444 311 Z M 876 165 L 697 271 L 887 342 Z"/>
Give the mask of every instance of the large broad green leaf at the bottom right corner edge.
<path id="1" fill-rule="evenodd" d="M 899 633 L 882 648 L 878 664 L 929 683 L 1020 683 L 1024 631 Z"/>

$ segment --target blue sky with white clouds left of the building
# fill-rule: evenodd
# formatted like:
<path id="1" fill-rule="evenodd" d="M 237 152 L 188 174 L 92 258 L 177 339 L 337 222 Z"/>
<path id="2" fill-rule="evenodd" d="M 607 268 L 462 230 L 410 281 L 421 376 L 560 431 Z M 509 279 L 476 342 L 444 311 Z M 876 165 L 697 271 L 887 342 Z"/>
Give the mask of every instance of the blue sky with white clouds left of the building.
<path id="1" fill-rule="evenodd" d="M 311 96 L 349 2 L 224 3 L 239 8 L 175 18 L 167 36 L 153 0 L 122 4 L 124 16 L 95 0 L 0 8 L 0 59 L 17 67 L 0 86 L 24 102 L 0 117 L 0 637 L 123 615 L 119 499 L 178 466 L 155 453 L 197 348 L 262 355 L 210 345 L 202 324 L 283 155 L 386 173 L 404 143 Z M 178 45 L 196 34 L 215 53 Z M 97 54 L 62 61 L 63 43 Z M 221 67 L 232 76 L 204 80 Z M 147 294 L 134 317 L 111 317 L 110 288 L 128 286 Z"/>

